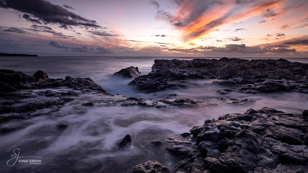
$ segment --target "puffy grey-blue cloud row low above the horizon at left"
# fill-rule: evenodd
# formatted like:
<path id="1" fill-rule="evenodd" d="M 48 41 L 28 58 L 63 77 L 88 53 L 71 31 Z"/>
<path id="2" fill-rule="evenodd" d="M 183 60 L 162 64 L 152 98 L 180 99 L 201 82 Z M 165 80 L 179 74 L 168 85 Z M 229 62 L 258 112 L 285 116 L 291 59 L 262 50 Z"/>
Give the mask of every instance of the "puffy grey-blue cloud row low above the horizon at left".
<path id="1" fill-rule="evenodd" d="M 87 52 L 87 53 L 101 53 L 101 54 L 115 54 L 114 51 L 110 50 L 110 49 L 106 49 L 104 47 L 97 47 L 97 48 L 93 48 L 93 47 L 87 47 L 87 46 L 67 46 L 67 45 L 63 45 L 57 41 L 50 41 L 48 43 L 50 46 L 54 46 L 56 48 L 61 48 L 61 49 L 65 49 L 68 51 L 73 51 L 73 52 Z"/>

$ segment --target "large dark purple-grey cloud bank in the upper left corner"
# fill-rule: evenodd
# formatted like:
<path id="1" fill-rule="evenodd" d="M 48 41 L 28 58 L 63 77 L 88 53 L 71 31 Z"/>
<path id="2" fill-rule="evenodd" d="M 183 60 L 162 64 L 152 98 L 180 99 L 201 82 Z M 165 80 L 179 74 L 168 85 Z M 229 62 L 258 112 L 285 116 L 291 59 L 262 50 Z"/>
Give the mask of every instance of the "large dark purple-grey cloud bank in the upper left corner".
<path id="1" fill-rule="evenodd" d="M 0 7 L 26 13 L 23 17 L 35 23 L 100 27 L 94 20 L 81 17 L 62 6 L 44 0 L 0 0 Z M 36 19 L 31 18 L 29 14 Z"/>

